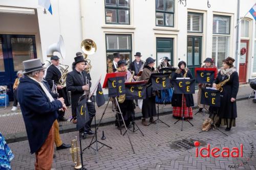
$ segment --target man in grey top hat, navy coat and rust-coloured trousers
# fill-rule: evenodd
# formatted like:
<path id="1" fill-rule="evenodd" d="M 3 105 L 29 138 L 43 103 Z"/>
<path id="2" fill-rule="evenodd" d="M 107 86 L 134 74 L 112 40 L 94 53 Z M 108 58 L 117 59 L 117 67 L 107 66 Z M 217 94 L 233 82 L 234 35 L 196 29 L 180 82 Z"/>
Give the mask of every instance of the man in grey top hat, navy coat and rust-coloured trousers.
<path id="1" fill-rule="evenodd" d="M 35 169 L 51 169 L 54 152 L 54 126 L 59 109 L 67 110 L 63 98 L 54 100 L 42 83 L 45 67 L 40 59 L 23 62 L 24 78 L 17 90 Z"/>

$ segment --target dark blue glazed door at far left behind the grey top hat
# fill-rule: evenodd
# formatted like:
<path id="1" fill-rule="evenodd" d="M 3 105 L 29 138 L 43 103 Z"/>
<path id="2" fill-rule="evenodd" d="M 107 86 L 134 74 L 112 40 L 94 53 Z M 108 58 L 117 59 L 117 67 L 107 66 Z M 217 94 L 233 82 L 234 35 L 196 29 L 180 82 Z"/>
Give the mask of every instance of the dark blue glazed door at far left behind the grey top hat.
<path id="1" fill-rule="evenodd" d="M 0 34 L 0 85 L 8 86 L 10 100 L 13 99 L 13 83 L 22 62 L 36 58 L 34 35 Z"/>

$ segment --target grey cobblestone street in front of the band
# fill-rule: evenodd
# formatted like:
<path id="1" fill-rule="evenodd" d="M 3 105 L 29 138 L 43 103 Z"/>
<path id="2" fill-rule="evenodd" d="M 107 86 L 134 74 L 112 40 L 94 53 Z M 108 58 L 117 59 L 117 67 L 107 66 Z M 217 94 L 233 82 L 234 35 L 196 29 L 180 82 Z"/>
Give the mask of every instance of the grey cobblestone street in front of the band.
<path id="1" fill-rule="evenodd" d="M 234 169 L 231 166 L 238 166 L 239 169 L 256 168 L 256 151 L 249 158 L 253 149 L 249 143 L 253 143 L 256 148 L 256 105 L 251 99 L 237 102 L 238 118 L 237 127 L 225 132 L 226 127 L 221 127 L 228 136 L 226 137 L 218 130 L 199 133 L 203 123 L 201 113 L 194 115 L 191 123 L 184 122 L 184 129 L 181 131 L 181 121 L 174 125 L 176 119 L 172 114 L 160 116 L 160 119 L 170 125 L 168 128 L 164 124 L 159 125 L 159 133 L 156 134 L 156 125 L 143 127 L 139 120 L 136 121 L 145 136 L 139 131 L 129 135 L 135 150 L 132 151 L 131 144 L 127 135 L 120 135 L 120 131 L 114 125 L 100 127 L 98 138 L 101 138 L 102 131 L 106 140 L 99 141 L 110 145 L 113 149 L 103 147 L 98 152 L 98 163 L 95 163 L 95 151 L 93 149 L 84 151 L 83 159 L 87 169 Z M 194 113 L 197 110 L 194 110 Z M 206 115 L 207 116 L 207 115 Z M 123 131 L 124 132 L 124 131 Z M 61 134 L 62 141 L 70 143 L 75 139 L 77 132 Z M 92 137 L 82 140 L 82 148 L 87 147 Z M 188 141 L 200 141 L 204 147 L 207 144 L 214 147 L 240 147 L 243 144 L 243 158 L 196 158 L 196 149 L 182 149 L 173 144 L 177 140 L 186 139 Z M 78 143 L 79 144 L 79 143 Z M 10 143 L 15 158 L 11 162 L 13 169 L 34 169 L 34 155 L 29 152 L 28 141 Z M 72 157 L 69 150 L 56 151 L 53 168 L 55 169 L 74 169 Z"/>

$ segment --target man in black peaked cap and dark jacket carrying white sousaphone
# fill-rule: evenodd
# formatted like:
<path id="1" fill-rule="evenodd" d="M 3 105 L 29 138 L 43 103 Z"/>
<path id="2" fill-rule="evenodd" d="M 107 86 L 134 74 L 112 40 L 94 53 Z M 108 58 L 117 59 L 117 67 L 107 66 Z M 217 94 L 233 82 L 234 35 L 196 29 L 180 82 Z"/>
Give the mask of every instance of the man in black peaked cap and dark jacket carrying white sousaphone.
<path id="1" fill-rule="evenodd" d="M 47 74 L 46 74 L 45 79 L 48 82 L 48 84 L 50 85 L 51 89 L 52 89 L 53 85 L 56 86 L 58 97 L 63 98 L 65 100 L 66 106 L 70 106 L 69 95 L 68 95 L 66 87 L 58 85 L 59 80 L 62 76 L 62 72 L 60 71 L 58 56 L 52 56 L 51 62 L 52 62 L 52 64 L 47 68 Z M 67 121 L 67 118 L 65 118 L 64 115 L 65 115 L 64 111 L 58 112 L 58 120 L 60 122 Z"/>

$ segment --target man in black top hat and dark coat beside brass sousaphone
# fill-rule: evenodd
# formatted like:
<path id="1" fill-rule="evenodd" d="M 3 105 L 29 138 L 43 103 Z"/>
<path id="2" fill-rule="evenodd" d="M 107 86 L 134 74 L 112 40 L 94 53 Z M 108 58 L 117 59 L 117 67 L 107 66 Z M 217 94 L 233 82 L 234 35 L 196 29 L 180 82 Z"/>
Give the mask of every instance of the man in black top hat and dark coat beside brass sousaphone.
<path id="1" fill-rule="evenodd" d="M 86 68 L 86 61 L 84 60 L 83 56 L 76 56 L 74 59 L 75 68 L 67 75 L 67 90 L 71 91 L 72 117 L 73 123 L 76 124 L 76 107 L 80 96 L 82 96 L 84 93 L 84 90 L 89 90 L 91 86 L 91 77 L 90 74 L 84 71 Z M 87 80 L 89 80 L 89 84 L 86 83 Z M 86 120 L 84 134 L 93 134 L 94 132 L 91 130 L 91 123 L 96 113 L 93 102 L 87 102 L 87 108 L 90 119 Z"/>

